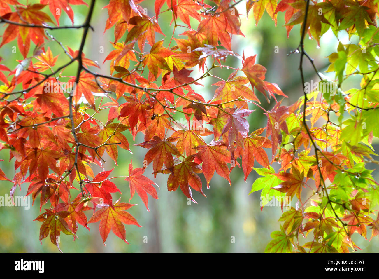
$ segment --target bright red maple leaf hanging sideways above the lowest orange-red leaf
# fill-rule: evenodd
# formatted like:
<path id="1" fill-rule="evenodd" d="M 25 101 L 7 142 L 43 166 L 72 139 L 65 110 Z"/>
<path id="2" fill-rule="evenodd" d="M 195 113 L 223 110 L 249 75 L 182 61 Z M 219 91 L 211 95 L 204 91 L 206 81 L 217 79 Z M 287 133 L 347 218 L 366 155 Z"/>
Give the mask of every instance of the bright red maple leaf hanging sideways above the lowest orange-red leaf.
<path id="1" fill-rule="evenodd" d="M 125 178 L 125 180 L 129 181 L 129 187 L 130 187 L 129 201 L 133 198 L 135 191 L 137 191 L 137 194 L 139 195 L 139 197 L 145 204 L 147 211 L 150 211 L 149 207 L 147 207 L 147 204 L 149 203 L 147 194 L 151 195 L 153 199 L 158 199 L 157 190 L 153 186 L 154 184 L 155 185 L 157 184 L 154 183 L 149 178 L 147 178 L 146 176 L 142 175 L 144 171 L 145 171 L 144 168 L 133 169 L 132 161 L 130 161 L 129 176 Z"/>

